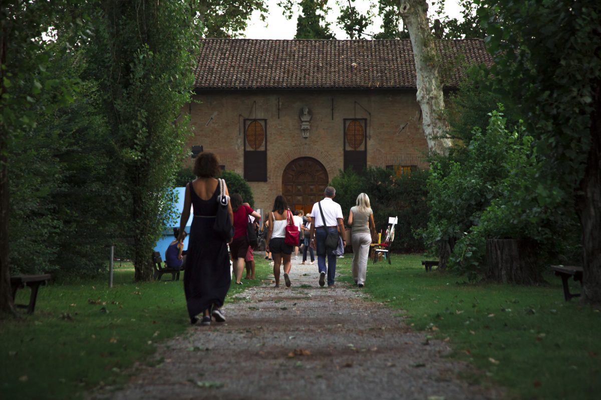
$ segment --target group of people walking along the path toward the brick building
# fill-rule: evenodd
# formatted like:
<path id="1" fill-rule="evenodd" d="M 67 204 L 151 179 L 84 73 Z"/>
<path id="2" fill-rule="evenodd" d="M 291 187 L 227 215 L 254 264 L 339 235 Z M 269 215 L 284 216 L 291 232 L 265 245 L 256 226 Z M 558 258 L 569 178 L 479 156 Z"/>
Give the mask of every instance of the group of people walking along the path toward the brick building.
<path id="1" fill-rule="evenodd" d="M 217 158 L 212 153 L 202 153 L 197 158 L 194 166 L 197 179 L 186 185 L 184 209 L 177 240 L 183 243 L 185 225 L 190 216 L 191 207 L 194 206 L 194 218 L 190 229 L 188 252 L 183 262 L 185 270 L 184 291 L 188 314 L 192 324 L 201 320 L 201 324 L 209 325 L 212 318 L 217 322 L 225 321 L 221 311 L 225 295 L 230 288 L 230 256 L 227 243 L 214 230 L 215 218 L 219 206 L 219 173 Z M 224 192 L 230 196 L 224 182 Z M 302 216 L 296 215 L 288 209 L 286 199 L 282 195 L 275 197 L 272 211 L 267 215 L 267 233 L 265 236 L 265 250 L 273 258 L 273 276 L 275 287 L 279 287 L 281 265 L 284 270 L 284 283 L 291 286 L 290 269 L 291 257 L 294 248 L 296 254 L 298 246 L 304 243 L 302 263 L 307 260 L 307 251 L 314 261 L 313 251 L 317 254 L 319 269 L 319 285 L 333 288 L 335 284 L 337 254 L 332 243 L 338 245 L 341 241 L 346 246 L 343 212 L 340 204 L 334 201 L 336 190 L 326 187 L 323 200 L 313 205 L 310 214 L 307 214 L 307 223 L 302 224 Z M 242 202 L 242 197 L 234 193 L 228 201 L 228 215 L 234 227 L 233 239 L 230 243 L 231 258 L 233 260 L 234 278 L 236 284 L 242 284 L 242 273 L 245 261 L 248 260 L 249 250 L 246 228 L 249 218 L 258 221 L 261 215 L 253 210 L 248 203 Z M 298 213 L 297 213 L 298 214 Z M 300 222 L 299 222 L 300 220 Z M 359 287 L 365 284 L 367 259 L 370 251 L 371 238 L 376 230 L 370 200 L 367 194 L 361 193 L 357 197 L 356 206 L 349 212 L 348 224 L 351 227 L 351 244 L 353 246 L 353 279 Z M 296 225 L 300 240 L 291 244 L 285 240 L 287 225 Z M 172 243 L 174 244 L 174 243 Z M 183 248 L 183 246 L 182 246 Z M 177 251 L 180 247 L 177 246 Z M 173 250 L 174 254 L 176 250 Z M 181 252 L 180 252 L 181 256 Z M 248 262 L 248 261 L 246 261 Z M 247 277 L 249 272 L 247 272 Z M 253 271 L 254 275 L 254 271 Z"/>

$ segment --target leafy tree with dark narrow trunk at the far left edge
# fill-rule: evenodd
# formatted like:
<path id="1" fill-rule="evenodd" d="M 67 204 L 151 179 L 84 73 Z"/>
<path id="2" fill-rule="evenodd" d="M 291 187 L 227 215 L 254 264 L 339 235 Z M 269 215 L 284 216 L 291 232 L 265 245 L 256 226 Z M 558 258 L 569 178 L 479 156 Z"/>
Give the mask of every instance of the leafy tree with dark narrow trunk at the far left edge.
<path id="1" fill-rule="evenodd" d="M 14 313 L 9 267 L 8 152 L 11 144 L 37 125 L 37 113 L 69 103 L 72 82 L 50 79 L 49 53 L 43 33 L 50 26 L 69 25 L 61 7 L 69 0 L 6 0 L 0 6 L 0 312 Z M 79 21 L 81 23 L 81 21 Z M 81 24 L 80 24 L 81 26 Z M 40 101 L 49 88 L 62 88 L 51 104 Z"/>

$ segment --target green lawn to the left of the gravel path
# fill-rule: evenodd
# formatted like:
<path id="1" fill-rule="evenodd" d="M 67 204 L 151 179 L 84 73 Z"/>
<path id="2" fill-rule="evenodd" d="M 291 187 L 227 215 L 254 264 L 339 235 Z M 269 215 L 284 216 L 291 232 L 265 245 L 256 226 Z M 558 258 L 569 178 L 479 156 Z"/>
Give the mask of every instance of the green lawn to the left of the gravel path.
<path id="1" fill-rule="evenodd" d="M 271 267 L 257 264 L 258 279 L 244 281 L 244 287 L 266 279 Z M 239 291 L 232 285 L 226 302 Z M 27 303 L 29 293 L 19 290 L 16 302 Z M 0 321 L 4 399 L 66 399 L 98 384 L 118 385 L 127 379 L 123 369 L 145 362 L 157 342 L 190 326 L 183 282 L 133 283 L 128 263 L 115 269 L 111 289 L 108 277 L 42 286 L 35 313 L 21 315 Z"/>

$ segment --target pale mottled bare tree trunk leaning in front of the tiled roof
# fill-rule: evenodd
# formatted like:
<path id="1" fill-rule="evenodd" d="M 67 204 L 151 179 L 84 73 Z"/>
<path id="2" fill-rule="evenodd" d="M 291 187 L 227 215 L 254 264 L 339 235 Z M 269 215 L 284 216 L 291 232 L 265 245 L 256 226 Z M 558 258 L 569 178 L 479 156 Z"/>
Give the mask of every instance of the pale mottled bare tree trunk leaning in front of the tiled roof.
<path id="1" fill-rule="evenodd" d="M 427 18 L 426 0 L 403 0 L 399 8 L 409 31 L 417 83 L 417 101 L 421 107 L 422 128 L 428 148 L 438 154 L 447 154 L 451 140 L 444 115 L 445 101 L 442 92 L 440 62 Z"/>

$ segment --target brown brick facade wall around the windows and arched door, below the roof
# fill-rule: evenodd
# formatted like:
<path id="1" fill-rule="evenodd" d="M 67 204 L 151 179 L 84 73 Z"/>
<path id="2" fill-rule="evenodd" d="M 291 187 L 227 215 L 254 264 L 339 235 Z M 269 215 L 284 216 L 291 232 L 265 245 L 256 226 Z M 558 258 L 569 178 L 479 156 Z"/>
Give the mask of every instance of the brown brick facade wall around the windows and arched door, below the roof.
<path id="1" fill-rule="evenodd" d="M 255 207 L 270 209 L 281 194 L 282 172 L 298 157 L 313 157 L 331 181 L 343 169 L 343 119 L 367 119 L 367 165 L 427 167 L 415 91 L 203 92 L 187 108 L 194 137 L 228 170 L 243 176 L 244 119 L 267 120 L 267 182 L 249 182 Z M 312 114 L 309 137 L 301 134 L 299 112 Z M 188 159 L 188 165 L 193 161 Z"/>

